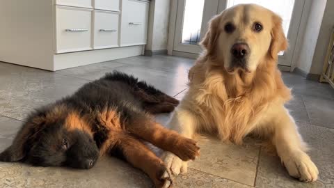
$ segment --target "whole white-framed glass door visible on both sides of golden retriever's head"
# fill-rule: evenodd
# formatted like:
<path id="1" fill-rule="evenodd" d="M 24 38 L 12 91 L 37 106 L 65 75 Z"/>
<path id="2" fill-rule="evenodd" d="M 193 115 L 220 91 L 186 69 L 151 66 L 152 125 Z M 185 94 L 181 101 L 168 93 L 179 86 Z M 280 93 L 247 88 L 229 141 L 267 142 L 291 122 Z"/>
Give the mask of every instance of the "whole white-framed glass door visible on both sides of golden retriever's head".
<path id="1" fill-rule="evenodd" d="M 209 19 L 240 3 L 259 4 L 283 18 L 289 49 L 280 52 L 278 63 L 291 66 L 305 0 L 178 0 L 173 51 L 199 54 L 198 42 L 207 31 Z"/>

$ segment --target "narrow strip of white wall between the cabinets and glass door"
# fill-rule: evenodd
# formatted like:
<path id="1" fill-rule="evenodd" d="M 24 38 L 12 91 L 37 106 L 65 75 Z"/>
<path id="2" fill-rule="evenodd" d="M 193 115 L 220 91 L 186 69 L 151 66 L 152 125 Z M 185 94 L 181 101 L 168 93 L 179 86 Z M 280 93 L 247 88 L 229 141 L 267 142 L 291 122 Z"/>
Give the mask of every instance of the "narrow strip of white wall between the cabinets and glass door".
<path id="1" fill-rule="evenodd" d="M 154 51 L 167 49 L 170 0 L 151 0 L 148 24 L 148 45 Z"/>

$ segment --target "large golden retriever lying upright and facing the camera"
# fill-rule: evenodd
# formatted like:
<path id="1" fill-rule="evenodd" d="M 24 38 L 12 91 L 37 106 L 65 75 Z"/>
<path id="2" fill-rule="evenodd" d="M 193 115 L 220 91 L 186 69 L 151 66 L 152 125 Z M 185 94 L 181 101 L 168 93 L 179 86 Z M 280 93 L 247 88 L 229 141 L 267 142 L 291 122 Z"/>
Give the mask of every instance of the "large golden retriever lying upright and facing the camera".
<path id="1" fill-rule="evenodd" d="M 211 19 L 201 45 L 170 127 L 189 139 L 207 132 L 237 144 L 255 134 L 271 141 L 289 175 L 317 180 L 317 166 L 284 107 L 292 95 L 277 67 L 278 52 L 288 45 L 282 19 L 255 4 L 234 6 Z M 187 162 L 175 154 L 163 157 L 173 175 L 186 172 Z"/>

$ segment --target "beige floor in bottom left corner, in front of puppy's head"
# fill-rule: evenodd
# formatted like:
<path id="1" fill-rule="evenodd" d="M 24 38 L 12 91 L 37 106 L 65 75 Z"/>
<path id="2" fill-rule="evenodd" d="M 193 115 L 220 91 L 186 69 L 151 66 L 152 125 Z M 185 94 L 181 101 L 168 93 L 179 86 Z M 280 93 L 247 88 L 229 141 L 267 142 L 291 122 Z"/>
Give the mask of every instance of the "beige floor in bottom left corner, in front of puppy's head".
<path id="1" fill-rule="evenodd" d="M 152 187 L 147 175 L 114 158 L 102 158 L 90 170 L 0 163 L 0 187 Z"/>

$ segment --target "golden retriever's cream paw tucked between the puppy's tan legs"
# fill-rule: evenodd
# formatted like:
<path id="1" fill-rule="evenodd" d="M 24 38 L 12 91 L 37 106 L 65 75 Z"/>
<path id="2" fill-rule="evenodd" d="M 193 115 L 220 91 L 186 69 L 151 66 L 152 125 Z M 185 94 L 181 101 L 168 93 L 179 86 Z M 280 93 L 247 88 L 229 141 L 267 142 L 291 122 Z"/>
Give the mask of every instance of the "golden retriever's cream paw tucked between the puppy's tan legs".
<path id="1" fill-rule="evenodd" d="M 175 178 L 180 173 L 186 173 L 188 162 L 182 161 L 180 157 L 177 157 L 172 152 L 164 152 L 161 157 L 164 160 L 167 171 L 165 174 L 172 175 L 172 179 Z"/>

